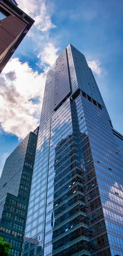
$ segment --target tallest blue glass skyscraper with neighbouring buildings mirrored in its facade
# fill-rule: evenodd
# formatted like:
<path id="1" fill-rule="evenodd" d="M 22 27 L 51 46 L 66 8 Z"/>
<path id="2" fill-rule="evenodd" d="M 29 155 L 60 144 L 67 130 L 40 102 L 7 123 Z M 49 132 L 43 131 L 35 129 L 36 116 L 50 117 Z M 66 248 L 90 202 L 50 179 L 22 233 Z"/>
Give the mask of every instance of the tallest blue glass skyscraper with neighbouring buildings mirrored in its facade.
<path id="1" fill-rule="evenodd" d="M 123 256 L 123 136 L 71 44 L 47 74 L 23 256 Z"/>

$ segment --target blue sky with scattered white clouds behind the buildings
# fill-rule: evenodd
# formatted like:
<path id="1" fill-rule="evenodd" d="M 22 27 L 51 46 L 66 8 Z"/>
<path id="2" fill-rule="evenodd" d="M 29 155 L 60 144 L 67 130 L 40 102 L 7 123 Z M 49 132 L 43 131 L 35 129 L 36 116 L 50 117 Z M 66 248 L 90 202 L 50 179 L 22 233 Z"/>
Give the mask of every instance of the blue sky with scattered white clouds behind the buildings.
<path id="1" fill-rule="evenodd" d="M 69 43 L 86 57 L 123 134 L 123 1 L 18 0 L 35 23 L 0 75 L 0 172 L 39 124 L 48 68 Z"/>

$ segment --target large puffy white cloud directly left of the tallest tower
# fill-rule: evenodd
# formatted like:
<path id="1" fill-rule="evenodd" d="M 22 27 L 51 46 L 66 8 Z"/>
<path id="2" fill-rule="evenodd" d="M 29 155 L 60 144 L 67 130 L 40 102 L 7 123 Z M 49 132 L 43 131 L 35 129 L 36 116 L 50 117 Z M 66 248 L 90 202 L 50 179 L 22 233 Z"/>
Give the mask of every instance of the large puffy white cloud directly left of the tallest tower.
<path id="1" fill-rule="evenodd" d="M 28 63 L 12 59 L 0 76 L 0 124 L 7 133 L 24 138 L 39 123 L 45 74 L 34 72 Z M 39 104 L 33 100 L 39 97 Z"/>

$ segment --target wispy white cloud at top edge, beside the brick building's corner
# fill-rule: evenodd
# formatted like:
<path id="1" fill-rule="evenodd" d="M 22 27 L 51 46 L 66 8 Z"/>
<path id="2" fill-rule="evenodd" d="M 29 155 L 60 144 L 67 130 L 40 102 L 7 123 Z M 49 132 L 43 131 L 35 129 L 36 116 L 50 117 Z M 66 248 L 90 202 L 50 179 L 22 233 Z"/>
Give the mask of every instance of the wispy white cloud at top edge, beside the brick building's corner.
<path id="1" fill-rule="evenodd" d="M 56 26 L 51 22 L 52 9 L 48 9 L 45 0 L 19 0 L 19 8 L 31 16 L 34 20 L 36 29 L 42 32 L 48 31 Z"/>

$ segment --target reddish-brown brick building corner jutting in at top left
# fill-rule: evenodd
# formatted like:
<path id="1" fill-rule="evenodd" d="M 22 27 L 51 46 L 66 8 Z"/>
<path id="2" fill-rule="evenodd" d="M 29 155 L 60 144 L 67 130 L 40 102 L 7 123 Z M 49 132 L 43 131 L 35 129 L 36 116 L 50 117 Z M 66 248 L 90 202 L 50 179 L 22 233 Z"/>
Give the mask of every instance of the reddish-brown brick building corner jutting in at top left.
<path id="1" fill-rule="evenodd" d="M 0 73 L 33 23 L 15 0 L 0 0 Z"/>

